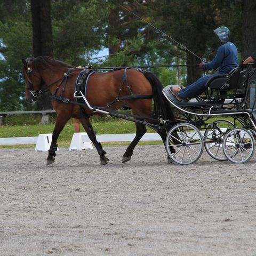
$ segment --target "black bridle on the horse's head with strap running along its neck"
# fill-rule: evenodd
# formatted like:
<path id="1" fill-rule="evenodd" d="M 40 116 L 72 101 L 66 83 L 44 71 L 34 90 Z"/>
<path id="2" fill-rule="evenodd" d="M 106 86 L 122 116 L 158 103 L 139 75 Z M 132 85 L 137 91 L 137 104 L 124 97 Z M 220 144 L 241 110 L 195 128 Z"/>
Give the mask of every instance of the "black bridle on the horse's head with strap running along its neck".
<path id="1" fill-rule="evenodd" d="M 53 83 L 51 83 L 51 84 L 49 84 L 49 85 L 46 85 L 46 83 L 43 81 L 44 84 L 43 84 L 42 86 L 46 85 L 46 87 L 45 87 L 43 90 L 34 90 L 34 86 L 33 86 L 33 83 L 32 83 L 32 81 L 31 81 L 32 75 L 36 76 L 36 77 L 37 77 L 38 79 L 40 79 L 40 80 L 42 80 L 42 77 L 39 77 L 39 76 L 33 71 L 33 69 L 31 69 L 31 68 L 29 67 L 29 63 L 28 63 L 28 67 L 25 68 L 25 69 L 26 69 L 26 71 L 27 71 L 27 75 L 28 75 L 28 78 L 29 78 L 29 79 L 28 79 L 28 86 L 26 86 L 26 88 L 29 90 L 29 92 L 31 93 L 31 95 L 32 95 L 34 98 L 39 98 L 39 97 L 41 97 L 43 93 L 49 91 L 50 87 L 51 87 L 53 84 L 58 83 L 59 81 L 62 80 L 61 83 L 60 83 L 60 85 L 61 85 L 62 82 L 63 82 L 65 79 L 67 79 L 68 76 L 71 74 L 71 73 L 70 73 L 70 70 L 68 69 L 67 73 L 64 73 L 64 75 L 63 75 L 61 78 L 57 79 L 57 81 L 54 81 Z M 57 88 L 59 89 L 59 87 L 57 87 Z M 57 89 L 57 90 L 58 90 L 58 89 Z"/>

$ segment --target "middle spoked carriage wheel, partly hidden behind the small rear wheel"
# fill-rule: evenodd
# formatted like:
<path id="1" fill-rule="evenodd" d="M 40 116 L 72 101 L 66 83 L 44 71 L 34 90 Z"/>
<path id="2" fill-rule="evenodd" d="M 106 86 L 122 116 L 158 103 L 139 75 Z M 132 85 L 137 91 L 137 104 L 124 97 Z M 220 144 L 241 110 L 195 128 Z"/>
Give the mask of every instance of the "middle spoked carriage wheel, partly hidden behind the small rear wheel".
<path id="1" fill-rule="evenodd" d="M 209 125 L 204 132 L 204 147 L 207 153 L 218 161 L 225 161 L 222 146 L 225 134 L 235 125 L 228 120 L 218 120 Z"/>

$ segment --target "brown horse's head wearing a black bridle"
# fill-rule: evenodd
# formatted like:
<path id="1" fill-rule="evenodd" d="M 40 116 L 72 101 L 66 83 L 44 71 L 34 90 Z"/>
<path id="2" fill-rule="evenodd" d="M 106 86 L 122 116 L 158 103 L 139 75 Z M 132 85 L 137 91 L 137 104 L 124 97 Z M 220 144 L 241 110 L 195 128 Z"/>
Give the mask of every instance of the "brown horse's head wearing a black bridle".
<path id="1" fill-rule="evenodd" d="M 36 101 L 42 95 L 42 86 L 44 84 L 43 78 L 39 71 L 33 65 L 34 58 L 27 61 L 21 59 L 23 62 L 23 77 L 26 85 L 26 100 L 29 103 Z"/>

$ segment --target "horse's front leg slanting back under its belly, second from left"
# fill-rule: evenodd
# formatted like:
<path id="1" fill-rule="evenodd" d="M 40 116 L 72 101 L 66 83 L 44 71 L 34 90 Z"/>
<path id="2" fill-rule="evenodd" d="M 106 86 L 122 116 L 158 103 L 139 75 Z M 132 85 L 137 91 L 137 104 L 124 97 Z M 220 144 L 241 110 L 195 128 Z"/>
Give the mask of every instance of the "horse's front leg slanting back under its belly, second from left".
<path id="1" fill-rule="evenodd" d="M 100 165 L 107 164 L 109 162 L 109 159 L 105 156 L 106 151 L 102 149 L 101 144 L 97 141 L 89 118 L 83 118 L 80 121 L 81 121 L 81 124 L 83 125 L 85 131 L 87 132 L 89 139 L 92 141 L 93 145 L 95 146 L 95 148 L 98 151 L 98 154 L 100 156 Z"/>

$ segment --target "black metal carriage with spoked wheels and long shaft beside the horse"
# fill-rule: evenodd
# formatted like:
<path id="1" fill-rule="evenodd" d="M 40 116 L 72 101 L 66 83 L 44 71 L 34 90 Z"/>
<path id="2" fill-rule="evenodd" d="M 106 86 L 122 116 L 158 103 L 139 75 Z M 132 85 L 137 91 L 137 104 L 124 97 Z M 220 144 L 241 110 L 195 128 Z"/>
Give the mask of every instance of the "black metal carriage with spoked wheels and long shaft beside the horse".
<path id="1" fill-rule="evenodd" d="M 168 97 L 165 87 L 163 95 L 180 115 L 174 125 L 168 120 L 161 120 L 160 125 L 149 124 L 138 120 L 140 116 L 91 106 L 81 91 L 76 91 L 74 97 L 83 98 L 85 105 L 92 111 L 140 122 L 156 131 L 165 129 L 166 151 L 176 163 L 195 163 L 201 157 L 204 148 L 218 161 L 228 159 L 233 163 L 245 163 L 251 159 L 255 150 L 255 102 L 252 109 L 247 108 L 250 90 L 248 81 L 255 69 L 247 71 L 236 68 L 228 75 L 213 77 L 206 84 L 205 97 L 198 97 L 196 102 L 175 102 Z M 214 116 L 231 117 L 233 122 L 228 119 L 211 122 L 211 117 Z M 172 148 L 174 150 L 171 150 Z"/>

